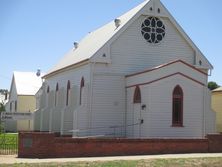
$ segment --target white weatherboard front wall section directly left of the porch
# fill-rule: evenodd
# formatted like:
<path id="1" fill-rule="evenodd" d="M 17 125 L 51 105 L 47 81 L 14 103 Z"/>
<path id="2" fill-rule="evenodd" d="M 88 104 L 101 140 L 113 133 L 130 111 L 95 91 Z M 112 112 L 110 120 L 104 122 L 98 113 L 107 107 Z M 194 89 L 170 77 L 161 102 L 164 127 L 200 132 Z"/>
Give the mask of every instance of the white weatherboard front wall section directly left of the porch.
<path id="1" fill-rule="evenodd" d="M 125 125 L 125 78 L 95 74 L 91 127 L 94 135 L 122 136 Z M 116 129 L 111 126 L 122 126 Z"/>

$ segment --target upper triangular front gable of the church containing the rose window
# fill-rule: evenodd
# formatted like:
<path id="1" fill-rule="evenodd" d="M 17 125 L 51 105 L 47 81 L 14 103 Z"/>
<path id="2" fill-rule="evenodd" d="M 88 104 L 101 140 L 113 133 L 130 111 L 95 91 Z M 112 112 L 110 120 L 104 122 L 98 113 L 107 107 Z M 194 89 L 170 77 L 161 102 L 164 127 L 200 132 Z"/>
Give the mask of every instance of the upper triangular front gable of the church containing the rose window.
<path id="1" fill-rule="evenodd" d="M 110 58 L 107 63 L 111 62 L 112 70 L 117 73 L 136 72 L 175 59 L 206 71 L 212 69 L 212 65 L 158 0 L 150 0 L 104 48 L 104 53 Z M 96 58 L 97 61 L 102 60 L 97 55 L 94 56 L 95 61 Z"/>

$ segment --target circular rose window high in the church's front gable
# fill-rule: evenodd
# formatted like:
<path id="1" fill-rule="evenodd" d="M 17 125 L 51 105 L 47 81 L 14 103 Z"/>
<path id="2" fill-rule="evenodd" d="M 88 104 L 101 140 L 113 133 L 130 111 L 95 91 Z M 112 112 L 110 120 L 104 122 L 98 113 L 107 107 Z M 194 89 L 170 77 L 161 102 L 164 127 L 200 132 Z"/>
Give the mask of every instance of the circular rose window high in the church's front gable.
<path id="1" fill-rule="evenodd" d="M 159 43 L 165 37 L 165 26 L 156 17 L 148 17 L 141 25 L 141 33 L 149 43 Z"/>

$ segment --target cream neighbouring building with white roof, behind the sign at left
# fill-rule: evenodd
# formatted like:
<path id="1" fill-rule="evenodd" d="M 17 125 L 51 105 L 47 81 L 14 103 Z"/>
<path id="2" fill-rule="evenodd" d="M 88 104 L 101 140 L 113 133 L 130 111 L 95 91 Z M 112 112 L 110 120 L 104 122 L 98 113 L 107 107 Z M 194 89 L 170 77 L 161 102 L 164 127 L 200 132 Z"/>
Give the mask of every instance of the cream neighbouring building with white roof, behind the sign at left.
<path id="1" fill-rule="evenodd" d="M 6 112 L 34 112 L 36 109 L 35 94 L 42 86 L 42 78 L 34 72 L 14 72 L 8 109 Z M 6 131 L 31 131 L 33 120 L 6 121 Z"/>

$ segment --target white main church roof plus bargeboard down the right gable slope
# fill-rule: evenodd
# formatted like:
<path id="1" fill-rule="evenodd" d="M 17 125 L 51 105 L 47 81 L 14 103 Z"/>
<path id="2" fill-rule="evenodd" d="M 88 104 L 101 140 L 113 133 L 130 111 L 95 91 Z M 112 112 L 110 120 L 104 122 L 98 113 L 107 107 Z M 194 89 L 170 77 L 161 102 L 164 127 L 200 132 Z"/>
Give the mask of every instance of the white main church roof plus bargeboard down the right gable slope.
<path id="1" fill-rule="evenodd" d="M 59 61 L 58 64 L 56 64 L 50 71 L 48 71 L 48 73 L 44 76 L 44 78 L 46 78 L 50 74 L 59 72 L 60 70 L 65 69 L 67 67 L 91 60 L 91 58 L 108 41 L 110 41 L 114 36 L 117 36 L 117 34 L 121 33 L 125 28 L 127 28 L 127 26 L 133 20 L 138 18 L 140 15 L 144 14 L 144 13 L 142 13 L 142 11 L 149 3 L 153 3 L 153 4 L 158 3 L 159 5 L 161 5 L 164 8 L 165 14 L 163 17 L 169 17 L 169 19 L 175 25 L 175 27 L 178 29 L 178 31 L 181 33 L 181 35 L 188 41 L 190 46 L 194 50 L 196 50 L 197 56 L 200 55 L 204 59 L 204 61 L 207 62 L 207 64 L 208 64 L 207 68 L 213 69 L 213 66 L 210 64 L 210 62 L 204 57 L 204 55 L 201 53 L 201 51 L 198 49 L 198 47 L 192 42 L 192 40 L 188 37 L 188 35 L 183 31 L 183 29 L 176 22 L 176 20 L 171 16 L 171 14 L 164 7 L 164 5 L 159 0 L 145 0 L 143 3 L 141 3 L 137 7 L 133 8 L 129 12 L 118 17 L 118 19 L 121 20 L 121 24 L 118 28 L 116 28 L 114 21 L 111 21 L 108 24 L 102 26 L 101 28 L 87 34 L 86 37 L 83 38 L 79 42 L 77 49 L 71 49 Z M 143 12 L 146 13 L 147 11 L 143 11 Z M 160 15 L 160 16 L 162 16 L 162 15 Z"/>

